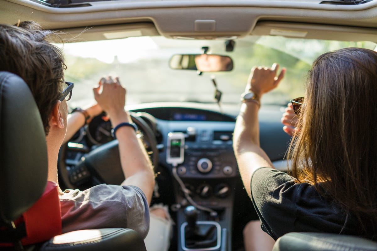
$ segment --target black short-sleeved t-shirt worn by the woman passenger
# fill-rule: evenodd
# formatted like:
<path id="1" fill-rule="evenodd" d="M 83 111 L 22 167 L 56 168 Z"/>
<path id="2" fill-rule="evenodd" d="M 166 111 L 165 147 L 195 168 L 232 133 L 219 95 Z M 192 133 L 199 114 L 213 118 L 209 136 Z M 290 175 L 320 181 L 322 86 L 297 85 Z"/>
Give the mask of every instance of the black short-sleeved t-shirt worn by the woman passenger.
<path id="1" fill-rule="evenodd" d="M 275 169 L 262 167 L 253 173 L 251 199 L 262 229 L 275 240 L 290 232 L 341 233 L 374 239 L 374 226 L 369 224 L 363 231 L 358 221 L 333 200 L 320 196 L 314 186 L 294 183 L 290 175 Z"/>

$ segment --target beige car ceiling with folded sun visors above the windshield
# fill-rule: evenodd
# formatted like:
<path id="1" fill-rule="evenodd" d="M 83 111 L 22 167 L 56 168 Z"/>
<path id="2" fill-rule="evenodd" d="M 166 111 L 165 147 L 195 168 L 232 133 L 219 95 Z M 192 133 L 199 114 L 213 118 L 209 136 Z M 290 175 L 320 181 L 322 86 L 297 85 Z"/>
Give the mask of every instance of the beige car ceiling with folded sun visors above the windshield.
<path id="1" fill-rule="evenodd" d="M 69 34 L 63 38 L 80 35 L 80 41 L 145 35 L 186 39 L 282 35 L 377 42 L 377 0 L 359 5 L 318 0 L 115 0 L 66 8 L 41 2 L 0 0 L 0 22 L 34 20 L 44 29 Z"/>

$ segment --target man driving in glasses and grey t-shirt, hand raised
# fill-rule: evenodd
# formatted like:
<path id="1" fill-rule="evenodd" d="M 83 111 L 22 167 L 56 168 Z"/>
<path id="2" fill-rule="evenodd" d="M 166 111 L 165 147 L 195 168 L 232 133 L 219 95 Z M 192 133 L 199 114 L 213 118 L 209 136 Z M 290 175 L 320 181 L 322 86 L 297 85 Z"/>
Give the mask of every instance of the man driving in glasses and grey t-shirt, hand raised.
<path id="1" fill-rule="evenodd" d="M 0 24 L 0 70 L 14 73 L 28 84 L 46 134 L 48 180 L 58 183 L 60 146 L 64 138 L 72 137 L 87 117 L 74 113 L 67 120 L 67 100 L 74 84 L 64 81 L 66 65 L 63 53 L 47 41 L 52 36 L 57 35 L 42 30 L 32 21 L 21 22 L 18 26 Z M 90 228 L 127 227 L 144 238 L 149 230 L 149 203 L 155 174 L 143 144 L 136 137 L 130 115 L 124 110 L 126 89 L 118 78 L 107 77 L 100 80 L 93 93 L 98 104 L 86 113 L 95 116 L 103 110 L 110 117 L 119 141 L 121 166 L 126 180 L 120 186 L 101 184 L 84 191 L 63 192 L 58 186 L 63 233 Z M 169 224 L 165 225 L 170 227 Z"/>

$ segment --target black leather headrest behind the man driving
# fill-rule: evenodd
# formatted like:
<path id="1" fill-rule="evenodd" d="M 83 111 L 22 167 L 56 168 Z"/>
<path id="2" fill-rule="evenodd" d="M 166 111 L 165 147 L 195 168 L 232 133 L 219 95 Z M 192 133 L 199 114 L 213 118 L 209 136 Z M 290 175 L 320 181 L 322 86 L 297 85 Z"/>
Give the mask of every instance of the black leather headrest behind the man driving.
<path id="1" fill-rule="evenodd" d="M 17 219 L 42 195 L 47 148 L 40 113 L 28 85 L 0 71 L 0 217 Z"/>

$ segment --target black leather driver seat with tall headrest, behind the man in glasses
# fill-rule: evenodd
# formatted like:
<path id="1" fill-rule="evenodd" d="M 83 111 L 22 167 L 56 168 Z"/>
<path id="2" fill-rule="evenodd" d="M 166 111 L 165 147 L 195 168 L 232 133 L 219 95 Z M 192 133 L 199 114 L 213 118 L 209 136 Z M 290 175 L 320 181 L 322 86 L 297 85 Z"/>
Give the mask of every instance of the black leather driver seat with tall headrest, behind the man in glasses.
<path id="1" fill-rule="evenodd" d="M 28 85 L 19 76 L 5 71 L 0 71 L 0 149 L 2 250 L 146 251 L 141 236 L 128 228 L 79 230 L 27 246 L 21 244 L 21 239 L 28 237 L 29 228 L 25 227 L 28 223 L 26 220 L 25 224 L 14 222 L 24 217 L 45 192 L 47 148 L 41 117 Z M 58 202 L 57 193 L 55 195 Z M 44 204 L 48 210 L 53 210 L 50 206 Z M 38 223 L 48 224 L 43 217 Z"/>

